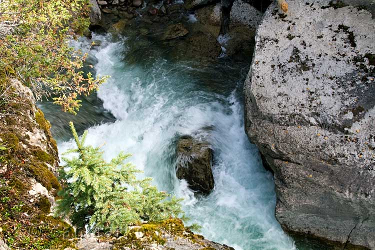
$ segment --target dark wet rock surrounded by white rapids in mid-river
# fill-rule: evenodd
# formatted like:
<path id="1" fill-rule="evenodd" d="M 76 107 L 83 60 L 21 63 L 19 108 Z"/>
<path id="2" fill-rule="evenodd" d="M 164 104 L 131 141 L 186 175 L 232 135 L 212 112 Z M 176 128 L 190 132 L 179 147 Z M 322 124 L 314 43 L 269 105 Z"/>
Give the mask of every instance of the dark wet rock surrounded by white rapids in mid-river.
<path id="1" fill-rule="evenodd" d="M 214 182 L 212 150 L 208 143 L 196 141 L 191 136 L 182 136 L 177 143 L 177 158 L 177 177 L 185 179 L 192 190 L 209 193 Z"/>

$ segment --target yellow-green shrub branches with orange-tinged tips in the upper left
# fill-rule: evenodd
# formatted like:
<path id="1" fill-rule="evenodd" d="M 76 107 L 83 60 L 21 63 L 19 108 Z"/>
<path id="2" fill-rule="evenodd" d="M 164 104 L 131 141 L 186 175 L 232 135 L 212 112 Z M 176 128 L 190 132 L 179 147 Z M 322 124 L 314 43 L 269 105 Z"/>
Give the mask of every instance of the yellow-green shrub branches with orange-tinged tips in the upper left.
<path id="1" fill-rule="evenodd" d="M 85 74 L 87 53 L 68 44 L 87 30 L 89 10 L 88 0 L 0 1 L 0 102 L 12 100 L 9 79 L 17 78 L 37 99 L 51 96 L 64 111 L 78 110 L 77 96 L 106 78 Z"/>

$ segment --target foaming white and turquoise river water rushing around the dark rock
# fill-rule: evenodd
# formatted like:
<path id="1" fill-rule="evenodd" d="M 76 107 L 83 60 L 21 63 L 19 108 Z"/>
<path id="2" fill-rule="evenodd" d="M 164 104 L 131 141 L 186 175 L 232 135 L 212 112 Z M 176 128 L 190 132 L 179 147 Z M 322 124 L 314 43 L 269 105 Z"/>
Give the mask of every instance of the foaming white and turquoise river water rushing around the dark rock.
<path id="1" fill-rule="evenodd" d="M 100 45 L 90 50 L 88 62 L 96 74 L 111 76 L 99 99 L 86 101 L 77 117 L 61 118 L 55 106 L 39 105 L 51 120 L 59 152 L 73 145 L 61 123 L 87 120 L 86 143 L 102 145 L 106 159 L 121 150 L 132 153 L 131 161 L 159 189 L 184 198 L 186 215 L 206 238 L 237 250 L 295 249 L 274 217 L 272 176 L 244 132 L 242 87 L 249 62 L 170 61 L 163 48 L 134 37 L 93 34 L 92 40 Z M 90 42 L 82 38 L 73 45 L 84 50 Z M 214 151 L 215 186 L 208 196 L 194 196 L 175 176 L 176 138 L 185 134 L 204 137 Z"/>

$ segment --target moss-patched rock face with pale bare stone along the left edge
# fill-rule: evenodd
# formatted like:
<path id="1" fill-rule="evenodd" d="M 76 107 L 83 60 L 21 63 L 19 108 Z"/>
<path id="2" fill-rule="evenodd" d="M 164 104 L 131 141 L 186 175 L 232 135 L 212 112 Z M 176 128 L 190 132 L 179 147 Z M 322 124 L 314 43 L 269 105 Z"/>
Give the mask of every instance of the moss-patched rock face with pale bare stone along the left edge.
<path id="1" fill-rule="evenodd" d="M 0 189 L 1 197 L 7 200 L 6 205 L 2 202 L 0 210 L 2 215 L 12 215 L 2 216 L 0 239 L 12 242 L 17 235 L 28 238 L 28 241 L 15 239 L 9 245 L 12 248 L 16 245 L 30 249 L 31 245 L 46 245 L 47 241 L 51 248 L 69 246 L 72 243 L 67 238 L 72 236 L 72 228 L 51 216 L 54 197 L 61 186 L 54 175 L 58 153 L 50 124 L 35 106 L 28 87 L 16 79 L 5 84 L 11 87 L 5 95 L 10 100 L 0 104 L 0 144 L 6 148 L 0 152 Z M 22 209 L 13 209 L 18 204 Z M 56 236 L 57 230 L 66 232 L 66 237 Z M 6 250 L 1 240 L 0 249 Z"/>

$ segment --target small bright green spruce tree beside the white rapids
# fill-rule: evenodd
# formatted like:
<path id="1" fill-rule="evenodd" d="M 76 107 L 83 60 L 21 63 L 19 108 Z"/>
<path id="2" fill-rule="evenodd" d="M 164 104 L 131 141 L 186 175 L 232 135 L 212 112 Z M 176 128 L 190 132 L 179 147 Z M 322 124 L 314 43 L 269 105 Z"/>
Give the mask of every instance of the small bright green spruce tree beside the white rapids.
<path id="1" fill-rule="evenodd" d="M 180 199 L 158 191 L 150 178 L 136 178 L 141 171 L 124 162 L 130 154 L 121 152 L 106 162 L 99 147 L 84 145 L 87 131 L 79 139 L 73 123 L 69 125 L 77 148 L 66 153 L 77 155 L 63 157 L 57 215 L 69 216 L 78 227 L 88 223 L 92 229 L 125 232 L 140 220 L 161 221 L 182 213 Z"/>

